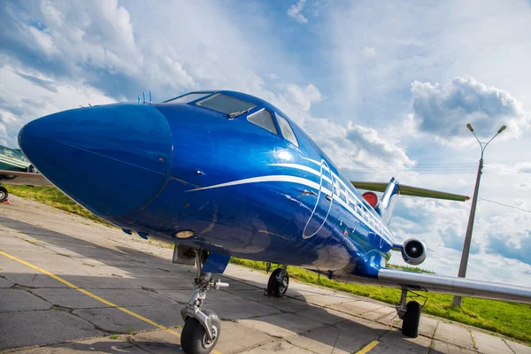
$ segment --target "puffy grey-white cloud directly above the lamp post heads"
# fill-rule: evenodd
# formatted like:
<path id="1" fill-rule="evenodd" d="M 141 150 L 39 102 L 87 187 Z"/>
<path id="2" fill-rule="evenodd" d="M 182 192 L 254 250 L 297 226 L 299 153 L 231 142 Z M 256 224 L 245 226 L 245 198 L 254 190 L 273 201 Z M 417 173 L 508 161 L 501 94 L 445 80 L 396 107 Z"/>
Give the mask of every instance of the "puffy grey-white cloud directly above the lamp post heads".
<path id="1" fill-rule="evenodd" d="M 474 79 L 456 78 L 450 85 L 413 81 L 412 113 L 408 117 L 420 132 L 443 143 L 474 143 L 465 125 L 471 123 L 480 138 L 489 139 L 499 127 L 508 129 L 500 138 L 518 138 L 527 130 L 531 113 L 509 92 L 487 87 Z"/>

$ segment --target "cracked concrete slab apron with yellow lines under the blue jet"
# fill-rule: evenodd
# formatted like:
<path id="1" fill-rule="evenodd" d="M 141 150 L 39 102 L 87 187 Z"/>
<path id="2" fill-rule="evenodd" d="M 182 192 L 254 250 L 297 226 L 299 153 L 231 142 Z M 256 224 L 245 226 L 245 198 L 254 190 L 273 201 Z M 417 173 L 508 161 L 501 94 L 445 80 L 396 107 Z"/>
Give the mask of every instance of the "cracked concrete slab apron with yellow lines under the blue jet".
<path id="1" fill-rule="evenodd" d="M 0 350 L 180 353 L 195 269 L 173 250 L 17 196 L 0 204 Z M 214 353 L 531 353 L 525 344 L 423 315 L 418 338 L 389 304 L 229 265 L 204 308 L 222 319 Z"/>

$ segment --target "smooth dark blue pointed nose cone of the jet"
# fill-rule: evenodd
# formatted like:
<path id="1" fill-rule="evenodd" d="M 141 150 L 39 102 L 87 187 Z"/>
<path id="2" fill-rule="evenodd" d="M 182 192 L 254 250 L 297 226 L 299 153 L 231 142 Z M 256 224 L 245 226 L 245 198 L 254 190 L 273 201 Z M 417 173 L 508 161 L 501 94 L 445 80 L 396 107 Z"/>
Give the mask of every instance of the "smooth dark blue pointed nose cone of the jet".
<path id="1" fill-rule="evenodd" d="M 58 112 L 20 130 L 19 146 L 52 183 L 97 215 L 141 209 L 167 181 L 173 136 L 150 105 Z"/>

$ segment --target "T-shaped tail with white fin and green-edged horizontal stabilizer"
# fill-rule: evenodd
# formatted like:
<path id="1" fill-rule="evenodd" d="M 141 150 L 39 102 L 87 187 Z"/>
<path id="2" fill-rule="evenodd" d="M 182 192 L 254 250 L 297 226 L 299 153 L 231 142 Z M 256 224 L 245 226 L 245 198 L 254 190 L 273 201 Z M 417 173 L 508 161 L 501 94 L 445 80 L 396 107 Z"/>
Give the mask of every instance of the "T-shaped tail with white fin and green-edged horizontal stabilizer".
<path id="1" fill-rule="evenodd" d="M 352 185 L 357 189 L 383 192 L 383 195 L 380 198 L 380 203 L 376 210 L 380 213 L 381 219 L 386 223 L 389 223 L 389 219 L 391 219 L 393 209 L 395 208 L 396 198 L 399 195 L 455 200 L 458 202 L 466 202 L 468 199 L 470 199 L 470 196 L 461 196 L 458 194 L 440 192 L 432 189 L 421 189 L 418 187 L 401 185 L 395 180 L 395 177 L 391 178 L 389 183 L 359 181 L 350 181 L 350 183 L 352 183 Z"/>

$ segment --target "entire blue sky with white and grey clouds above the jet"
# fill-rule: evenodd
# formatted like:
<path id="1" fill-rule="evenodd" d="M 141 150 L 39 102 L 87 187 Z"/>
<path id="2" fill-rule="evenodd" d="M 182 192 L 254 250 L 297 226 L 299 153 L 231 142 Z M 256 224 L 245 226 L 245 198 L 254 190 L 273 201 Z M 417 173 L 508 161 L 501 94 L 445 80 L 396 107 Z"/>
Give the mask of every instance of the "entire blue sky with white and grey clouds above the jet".
<path id="1" fill-rule="evenodd" d="M 0 144 L 80 104 L 235 89 L 287 112 L 352 180 L 471 196 L 480 149 L 466 123 L 481 140 L 505 124 L 468 276 L 531 286 L 529 33 L 519 0 L 0 0 Z M 456 275 L 469 208 L 403 197 L 391 228 L 427 243 L 425 268 Z"/>

